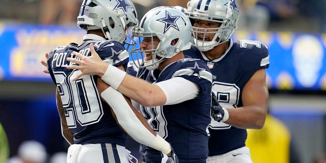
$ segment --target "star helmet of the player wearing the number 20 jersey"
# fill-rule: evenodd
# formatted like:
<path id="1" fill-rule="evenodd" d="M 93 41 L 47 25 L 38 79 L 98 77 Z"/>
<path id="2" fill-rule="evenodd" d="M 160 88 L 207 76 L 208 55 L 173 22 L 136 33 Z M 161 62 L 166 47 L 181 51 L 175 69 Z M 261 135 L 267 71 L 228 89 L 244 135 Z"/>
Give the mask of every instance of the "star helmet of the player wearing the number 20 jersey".
<path id="1" fill-rule="evenodd" d="M 84 0 L 77 17 L 79 28 L 101 29 L 106 39 L 120 43 L 132 38 L 137 24 L 137 11 L 130 0 Z"/>

